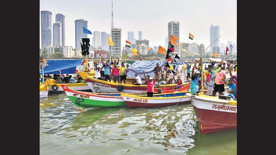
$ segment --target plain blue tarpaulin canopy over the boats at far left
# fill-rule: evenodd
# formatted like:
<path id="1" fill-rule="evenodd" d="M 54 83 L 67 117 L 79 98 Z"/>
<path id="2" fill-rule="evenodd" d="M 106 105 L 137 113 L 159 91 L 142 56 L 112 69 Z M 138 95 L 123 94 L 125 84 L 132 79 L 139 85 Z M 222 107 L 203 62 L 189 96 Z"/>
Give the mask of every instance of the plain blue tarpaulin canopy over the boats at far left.
<path id="1" fill-rule="evenodd" d="M 47 60 L 47 65 L 45 66 L 44 74 L 75 74 L 77 66 L 82 64 L 83 60 Z M 40 71 L 39 74 L 42 74 Z"/>

